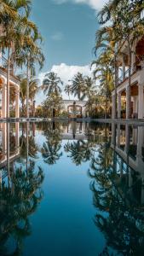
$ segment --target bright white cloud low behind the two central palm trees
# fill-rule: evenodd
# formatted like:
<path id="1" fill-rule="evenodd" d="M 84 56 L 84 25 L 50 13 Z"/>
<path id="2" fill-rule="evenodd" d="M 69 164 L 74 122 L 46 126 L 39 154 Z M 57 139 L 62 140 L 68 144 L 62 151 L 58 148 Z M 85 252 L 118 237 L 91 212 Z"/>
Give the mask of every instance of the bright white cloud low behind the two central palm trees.
<path id="1" fill-rule="evenodd" d="M 66 65 L 65 63 L 61 63 L 60 65 L 54 65 L 46 73 L 49 73 L 50 71 L 57 73 L 57 75 L 63 81 L 64 85 L 68 82 L 68 80 L 71 80 L 74 77 L 74 75 L 77 74 L 78 72 L 83 73 L 84 76 L 92 76 L 92 72 L 90 70 L 89 65 L 70 66 L 70 65 Z M 41 84 L 43 83 L 43 79 L 46 73 L 40 73 L 38 75 L 38 79 L 40 80 Z M 66 93 L 64 91 L 62 91 L 62 96 L 63 96 L 63 99 L 68 99 L 68 96 L 66 96 Z M 43 92 L 39 93 L 36 97 L 37 105 L 43 102 L 44 99 L 45 99 L 45 96 L 43 95 Z"/>

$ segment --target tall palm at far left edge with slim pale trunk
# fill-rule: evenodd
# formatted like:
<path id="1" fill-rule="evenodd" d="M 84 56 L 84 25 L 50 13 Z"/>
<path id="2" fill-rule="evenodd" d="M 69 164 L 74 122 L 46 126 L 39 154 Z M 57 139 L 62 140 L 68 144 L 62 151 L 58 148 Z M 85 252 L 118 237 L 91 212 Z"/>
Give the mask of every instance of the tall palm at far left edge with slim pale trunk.
<path id="1" fill-rule="evenodd" d="M 19 47 L 22 45 L 21 31 L 20 28 L 24 29 L 24 18 L 21 16 L 21 13 L 28 15 L 31 2 L 29 0 L 16 0 L 11 2 L 2 3 L 4 10 L 9 9 L 3 14 L 3 19 L 1 20 L 3 26 L 3 40 L 1 47 L 8 49 L 8 67 L 7 67 L 7 117 L 9 118 L 9 73 L 10 66 L 13 64 L 12 59 L 14 55 L 14 48 L 19 44 Z M 15 14 L 11 15 L 10 10 Z M 24 12 L 23 12 L 24 10 Z M 4 19 L 5 17 L 5 19 Z M 26 18 L 25 18 L 26 22 Z"/>

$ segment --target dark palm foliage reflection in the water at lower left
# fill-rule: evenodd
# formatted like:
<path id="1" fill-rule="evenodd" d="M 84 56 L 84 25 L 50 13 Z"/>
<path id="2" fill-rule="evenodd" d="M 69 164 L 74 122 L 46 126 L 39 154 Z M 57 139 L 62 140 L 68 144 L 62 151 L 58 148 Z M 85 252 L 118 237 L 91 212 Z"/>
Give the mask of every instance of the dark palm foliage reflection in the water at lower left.
<path id="1" fill-rule="evenodd" d="M 13 169 L 11 187 L 3 183 L 0 190 L 0 253 L 1 255 L 21 255 L 22 241 L 31 234 L 28 216 L 35 212 L 43 193 L 40 189 L 43 183 L 43 170 L 35 171 L 31 161 L 28 172 L 22 167 Z M 6 253 L 5 244 L 8 239 L 14 239 L 13 253 Z"/>

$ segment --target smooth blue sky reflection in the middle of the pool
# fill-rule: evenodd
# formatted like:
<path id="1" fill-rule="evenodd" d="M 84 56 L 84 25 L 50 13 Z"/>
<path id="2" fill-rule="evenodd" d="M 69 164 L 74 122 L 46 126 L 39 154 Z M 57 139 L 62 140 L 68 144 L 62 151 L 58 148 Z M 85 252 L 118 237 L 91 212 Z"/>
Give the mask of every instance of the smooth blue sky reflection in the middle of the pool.
<path id="1" fill-rule="evenodd" d="M 32 236 L 26 239 L 24 255 L 31 250 L 33 256 L 95 256 L 104 247 L 104 237 L 93 222 L 89 162 L 75 166 L 63 149 L 66 143 L 61 143 L 63 155 L 56 165 L 38 163 L 45 175 L 44 198 L 31 218 Z"/>

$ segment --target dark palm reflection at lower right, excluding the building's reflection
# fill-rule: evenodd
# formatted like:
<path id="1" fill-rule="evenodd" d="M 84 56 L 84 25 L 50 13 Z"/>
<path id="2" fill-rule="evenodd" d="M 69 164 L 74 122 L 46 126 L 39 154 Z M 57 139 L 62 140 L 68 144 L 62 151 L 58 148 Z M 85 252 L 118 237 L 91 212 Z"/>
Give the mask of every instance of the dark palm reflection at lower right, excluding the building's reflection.
<path id="1" fill-rule="evenodd" d="M 117 172 L 116 154 L 113 152 L 108 160 L 102 160 L 102 155 L 104 158 L 107 157 L 107 154 L 98 155 L 96 160 L 92 160 L 89 171 L 89 176 L 93 180 L 90 189 L 93 191 L 94 205 L 99 210 L 95 215 L 95 225 L 107 239 L 107 246 L 100 255 L 112 255 L 110 253 L 112 249 L 123 255 L 142 255 L 143 207 L 135 201 L 135 196 L 131 196 L 131 189 L 134 189 L 135 183 L 139 183 L 139 179 L 134 175 L 134 183 L 130 188 L 127 183 L 127 173 L 125 172 L 121 177 Z M 117 164 L 113 165 L 112 160 L 117 161 Z M 128 169 L 125 168 L 126 170 Z M 139 189 L 141 189 L 140 183 Z M 112 248 L 110 252 L 109 247 Z"/>

